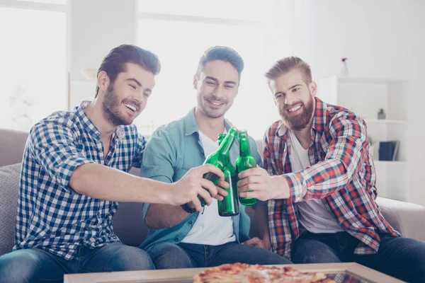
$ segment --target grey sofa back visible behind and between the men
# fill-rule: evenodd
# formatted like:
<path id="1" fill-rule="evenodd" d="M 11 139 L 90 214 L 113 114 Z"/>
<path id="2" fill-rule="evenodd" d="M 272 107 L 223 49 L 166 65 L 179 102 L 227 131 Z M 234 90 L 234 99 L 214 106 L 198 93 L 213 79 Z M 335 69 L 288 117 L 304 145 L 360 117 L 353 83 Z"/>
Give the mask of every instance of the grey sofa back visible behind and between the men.
<path id="1" fill-rule="evenodd" d="M 20 163 L 27 138 L 28 132 L 0 129 L 0 238 L 2 240 L 0 255 L 8 253 L 13 248 Z M 132 168 L 130 173 L 140 175 L 139 171 L 138 168 Z M 254 221 L 254 210 L 246 207 L 246 212 Z M 251 236 L 259 236 L 256 227 L 254 223 L 251 225 Z M 143 221 L 142 204 L 121 202 L 118 212 L 113 217 L 113 230 L 123 243 L 139 246 L 145 240 L 148 231 Z"/>

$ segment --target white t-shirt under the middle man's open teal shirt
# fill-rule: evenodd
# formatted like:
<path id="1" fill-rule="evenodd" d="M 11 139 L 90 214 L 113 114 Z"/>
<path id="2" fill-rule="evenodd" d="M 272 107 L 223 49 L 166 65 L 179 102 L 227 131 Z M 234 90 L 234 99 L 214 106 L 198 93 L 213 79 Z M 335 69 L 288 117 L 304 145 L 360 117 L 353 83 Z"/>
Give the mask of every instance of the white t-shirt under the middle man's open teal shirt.
<path id="1" fill-rule="evenodd" d="M 205 156 L 209 156 L 218 149 L 218 141 L 213 141 L 200 131 L 199 137 Z M 232 217 L 218 215 L 217 200 L 212 199 L 212 203 L 209 206 L 205 205 L 205 210 L 200 211 L 191 231 L 181 242 L 219 246 L 232 241 L 236 241 Z"/>

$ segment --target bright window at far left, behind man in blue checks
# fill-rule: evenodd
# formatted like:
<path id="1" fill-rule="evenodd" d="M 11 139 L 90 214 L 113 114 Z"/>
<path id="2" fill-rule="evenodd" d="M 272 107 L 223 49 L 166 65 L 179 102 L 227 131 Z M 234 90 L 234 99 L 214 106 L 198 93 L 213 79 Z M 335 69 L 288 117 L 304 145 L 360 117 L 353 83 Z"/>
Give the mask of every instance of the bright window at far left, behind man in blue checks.
<path id="1" fill-rule="evenodd" d="M 0 127 L 28 131 L 67 110 L 66 6 L 8 3 L 0 6 Z"/>

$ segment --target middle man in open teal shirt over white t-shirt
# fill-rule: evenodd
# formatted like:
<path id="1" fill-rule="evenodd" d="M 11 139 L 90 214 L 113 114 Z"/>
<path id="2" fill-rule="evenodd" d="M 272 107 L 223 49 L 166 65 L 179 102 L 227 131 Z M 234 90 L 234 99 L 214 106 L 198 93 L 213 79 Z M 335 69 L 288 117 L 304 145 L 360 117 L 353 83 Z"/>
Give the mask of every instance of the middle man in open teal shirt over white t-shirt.
<path id="1" fill-rule="evenodd" d="M 212 47 L 200 59 L 193 76 L 198 103 L 188 114 L 159 127 L 147 143 L 142 161 L 142 176 L 166 183 L 178 182 L 190 168 L 199 166 L 218 147 L 217 135 L 230 125 L 225 113 L 232 106 L 239 88 L 244 62 L 229 47 Z M 251 153 L 262 164 L 254 139 Z M 239 141 L 230 151 L 232 162 L 239 156 Z M 220 195 L 227 195 L 223 189 Z M 217 197 L 217 200 L 222 200 Z M 249 239 L 249 216 L 240 205 L 240 214 L 218 215 L 217 200 L 202 213 L 195 204 L 182 207 L 167 204 L 143 204 L 145 223 L 151 229 L 141 248 L 147 250 L 157 269 L 210 267 L 232 262 L 285 264 L 288 260 L 266 250 L 268 238 Z M 258 214 L 265 217 L 266 207 Z M 267 234 L 267 224 L 263 222 Z M 242 243 L 242 245 L 241 245 Z M 266 249 L 264 249 L 266 248 Z"/>

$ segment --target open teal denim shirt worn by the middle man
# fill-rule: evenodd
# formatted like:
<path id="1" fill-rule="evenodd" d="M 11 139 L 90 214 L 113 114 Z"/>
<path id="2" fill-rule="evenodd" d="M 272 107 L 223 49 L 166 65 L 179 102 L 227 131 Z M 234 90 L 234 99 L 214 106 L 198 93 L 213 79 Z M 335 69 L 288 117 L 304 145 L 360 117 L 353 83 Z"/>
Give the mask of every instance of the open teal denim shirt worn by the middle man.
<path id="1" fill-rule="evenodd" d="M 225 120 L 227 130 L 232 127 Z M 159 127 L 150 137 L 143 154 L 141 175 L 166 183 L 174 183 L 183 177 L 193 167 L 200 166 L 205 161 L 203 146 L 199 139 L 198 125 L 195 120 L 195 108 L 180 120 Z M 249 137 L 251 155 L 259 166 L 263 161 L 257 150 L 256 141 Z M 230 149 L 230 160 L 235 163 L 239 156 L 239 139 L 234 141 Z M 240 205 L 240 212 L 232 216 L 233 231 L 238 243 L 249 239 L 249 226 L 251 221 L 245 212 L 244 205 Z M 144 218 L 149 204 L 142 204 Z M 180 224 L 169 229 L 149 230 L 146 240 L 140 245 L 145 250 L 157 243 L 180 243 L 191 231 L 193 224 L 198 219 L 199 212 L 189 214 Z"/>

